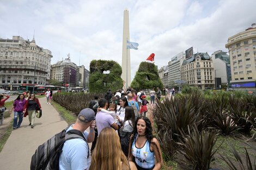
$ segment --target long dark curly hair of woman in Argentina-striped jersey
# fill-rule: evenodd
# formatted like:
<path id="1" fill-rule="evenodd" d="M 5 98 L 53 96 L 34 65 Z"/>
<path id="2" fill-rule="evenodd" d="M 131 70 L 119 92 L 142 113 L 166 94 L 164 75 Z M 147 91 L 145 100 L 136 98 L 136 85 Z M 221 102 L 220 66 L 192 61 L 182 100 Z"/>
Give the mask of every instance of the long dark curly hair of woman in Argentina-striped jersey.
<path id="1" fill-rule="evenodd" d="M 125 110 L 126 110 L 126 108 L 125 108 Z M 151 122 L 150 122 L 149 118 L 148 118 L 148 117 L 145 117 L 145 116 L 141 116 L 141 117 L 138 117 L 138 118 L 136 119 L 135 126 L 133 127 L 133 132 L 132 132 L 133 136 L 132 136 L 131 142 L 133 142 L 133 141 L 135 140 L 135 137 L 136 137 L 136 135 L 137 135 L 137 133 L 138 133 L 138 131 L 137 131 L 137 123 L 138 123 L 138 120 L 139 120 L 139 119 L 143 119 L 143 121 L 145 121 L 145 123 L 146 123 L 145 135 L 146 135 L 147 140 L 148 140 L 149 143 L 150 143 L 154 136 L 153 136 L 153 134 L 152 134 Z M 131 144 L 131 146 L 132 146 L 132 144 Z"/>

